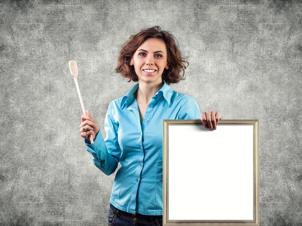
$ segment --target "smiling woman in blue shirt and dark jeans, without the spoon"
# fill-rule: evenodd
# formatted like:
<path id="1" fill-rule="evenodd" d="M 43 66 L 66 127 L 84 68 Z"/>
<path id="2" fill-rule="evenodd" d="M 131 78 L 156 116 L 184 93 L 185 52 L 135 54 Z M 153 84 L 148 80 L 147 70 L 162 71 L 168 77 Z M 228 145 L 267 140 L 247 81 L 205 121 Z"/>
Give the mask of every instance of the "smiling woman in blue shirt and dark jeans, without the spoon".
<path id="1" fill-rule="evenodd" d="M 204 127 L 213 130 L 221 119 L 219 112 L 201 114 L 193 97 L 170 88 L 184 80 L 184 63 L 174 36 L 160 27 L 130 36 L 116 72 L 138 83 L 109 104 L 106 138 L 98 135 L 100 127 L 89 111 L 81 117 L 80 133 L 94 164 L 110 175 L 121 163 L 112 187 L 109 225 L 162 225 L 164 119 L 201 117 Z"/>

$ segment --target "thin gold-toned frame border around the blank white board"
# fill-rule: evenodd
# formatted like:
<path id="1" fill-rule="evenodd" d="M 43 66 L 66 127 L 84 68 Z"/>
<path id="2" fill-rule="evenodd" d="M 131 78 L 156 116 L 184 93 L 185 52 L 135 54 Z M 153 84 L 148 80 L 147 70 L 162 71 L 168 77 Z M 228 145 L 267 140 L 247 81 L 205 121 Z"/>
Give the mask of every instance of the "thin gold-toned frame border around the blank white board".
<path id="1" fill-rule="evenodd" d="M 253 125 L 254 127 L 254 217 L 253 220 L 168 220 L 168 157 L 169 157 L 169 125 L 199 125 L 201 120 L 164 120 L 163 122 L 163 225 L 259 225 L 259 120 L 220 120 L 217 130 L 223 125 Z"/>

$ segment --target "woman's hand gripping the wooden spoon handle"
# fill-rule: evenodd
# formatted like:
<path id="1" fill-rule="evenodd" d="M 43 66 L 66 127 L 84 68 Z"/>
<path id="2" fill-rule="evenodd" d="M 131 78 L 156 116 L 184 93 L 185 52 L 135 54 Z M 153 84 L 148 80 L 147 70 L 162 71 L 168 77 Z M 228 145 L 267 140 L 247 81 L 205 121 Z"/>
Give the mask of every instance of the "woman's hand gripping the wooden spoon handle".
<path id="1" fill-rule="evenodd" d="M 86 110 L 86 116 L 81 116 L 81 122 L 82 124 L 79 126 L 81 136 L 89 141 L 89 135 L 92 135 L 93 140 L 95 140 L 100 131 L 100 127 L 97 122 L 91 118 L 88 110 Z"/>

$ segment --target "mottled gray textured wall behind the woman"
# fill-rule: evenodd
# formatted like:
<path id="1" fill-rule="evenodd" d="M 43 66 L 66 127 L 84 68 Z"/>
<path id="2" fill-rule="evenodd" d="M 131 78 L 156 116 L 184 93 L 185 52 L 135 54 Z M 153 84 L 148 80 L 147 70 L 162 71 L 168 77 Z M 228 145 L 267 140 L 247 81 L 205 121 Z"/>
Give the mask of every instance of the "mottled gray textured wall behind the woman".
<path id="1" fill-rule="evenodd" d="M 172 88 L 222 119 L 260 120 L 260 223 L 302 225 L 298 1 L 1 1 L 0 224 L 106 225 L 114 175 L 91 161 L 68 61 L 103 130 L 133 83 L 122 44 L 159 25 L 190 62 Z"/>

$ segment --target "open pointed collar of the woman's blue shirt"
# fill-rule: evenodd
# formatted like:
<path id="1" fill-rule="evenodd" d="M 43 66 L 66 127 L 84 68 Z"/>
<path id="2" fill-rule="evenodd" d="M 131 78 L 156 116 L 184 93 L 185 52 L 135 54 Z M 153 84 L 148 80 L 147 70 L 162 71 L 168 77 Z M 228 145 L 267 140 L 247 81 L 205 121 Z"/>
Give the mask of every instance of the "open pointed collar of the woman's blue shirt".
<path id="1" fill-rule="evenodd" d="M 121 108 L 123 108 L 124 105 L 128 107 L 134 100 L 135 98 L 135 92 L 138 89 L 139 84 L 136 83 L 127 93 L 126 95 L 123 96 L 122 101 L 121 101 Z M 172 98 L 173 91 L 170 88 L 170 86 L 166 83 L 164 80 L 164 85 L 162 88 L 152 97 L 154 98 L 155 96 L 164 96 L 164 98 L 167 100 L 169 107 L 171 107 L 171 98 Z"/>

